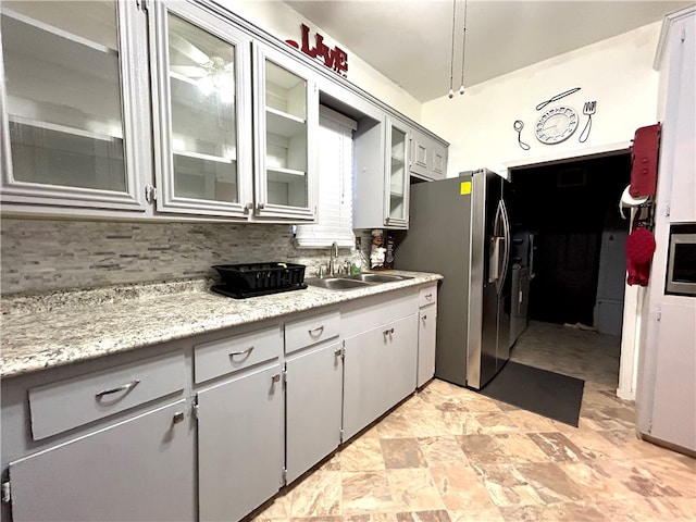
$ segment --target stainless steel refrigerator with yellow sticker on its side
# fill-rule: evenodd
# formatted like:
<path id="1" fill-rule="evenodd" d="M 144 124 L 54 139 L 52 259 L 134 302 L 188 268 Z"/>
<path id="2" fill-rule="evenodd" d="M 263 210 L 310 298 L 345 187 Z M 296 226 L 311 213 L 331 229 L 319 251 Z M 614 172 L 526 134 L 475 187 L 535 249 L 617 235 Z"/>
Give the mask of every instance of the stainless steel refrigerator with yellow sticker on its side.
<path id="1" fill-rule="evenodd" d="M 395 268 L 437 272 L 435 376 L 482 388 L 510 358 L 508 182 L 482 169 L 411 185 Z"/>

